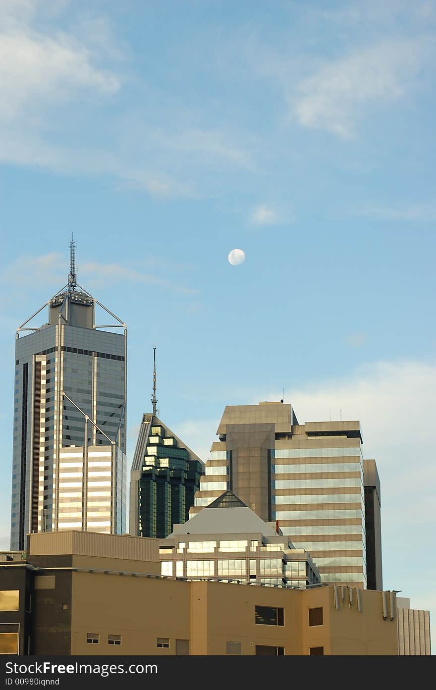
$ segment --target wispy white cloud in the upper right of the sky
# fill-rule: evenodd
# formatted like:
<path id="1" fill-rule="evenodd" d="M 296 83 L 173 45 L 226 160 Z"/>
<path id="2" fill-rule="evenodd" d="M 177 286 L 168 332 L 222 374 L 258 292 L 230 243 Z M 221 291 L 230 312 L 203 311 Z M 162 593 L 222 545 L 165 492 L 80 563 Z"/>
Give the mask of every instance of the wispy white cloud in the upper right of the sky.
<path id="1" fill-rule="evenodd" d="M 364 108 L 386 105 L 413 90 L 429 56 L 426 37 L 360 48 L 301 79 L 295 92 L 289 91 L 290 108 L 304 127 L 353 137 Z"/>

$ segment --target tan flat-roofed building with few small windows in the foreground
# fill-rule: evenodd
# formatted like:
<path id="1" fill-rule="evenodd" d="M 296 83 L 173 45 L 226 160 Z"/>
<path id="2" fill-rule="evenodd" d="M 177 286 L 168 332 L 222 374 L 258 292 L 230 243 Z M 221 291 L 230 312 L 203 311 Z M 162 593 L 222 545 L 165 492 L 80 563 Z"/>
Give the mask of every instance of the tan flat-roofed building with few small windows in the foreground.
<path id="1" fill-rule="evenodd" d="M 0 562 L 0 652 L 397 655 L 393 592 L 171 580 L 158 574 L 157 544 L 30 535 L 27 554 Z"/>

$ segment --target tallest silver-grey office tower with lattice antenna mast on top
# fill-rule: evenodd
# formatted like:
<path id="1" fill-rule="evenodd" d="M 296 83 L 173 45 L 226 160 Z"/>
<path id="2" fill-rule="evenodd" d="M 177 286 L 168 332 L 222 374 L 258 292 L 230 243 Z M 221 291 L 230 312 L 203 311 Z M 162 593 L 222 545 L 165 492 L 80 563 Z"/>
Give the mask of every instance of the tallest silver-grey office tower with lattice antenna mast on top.
<path id="1" fill-rule="evenodd" d="M 71 242 L 68 284 L 17 329 L 11 549 L 31 532 L 125 531 L 126 344 L 126 324 L 77 285 Z"/>

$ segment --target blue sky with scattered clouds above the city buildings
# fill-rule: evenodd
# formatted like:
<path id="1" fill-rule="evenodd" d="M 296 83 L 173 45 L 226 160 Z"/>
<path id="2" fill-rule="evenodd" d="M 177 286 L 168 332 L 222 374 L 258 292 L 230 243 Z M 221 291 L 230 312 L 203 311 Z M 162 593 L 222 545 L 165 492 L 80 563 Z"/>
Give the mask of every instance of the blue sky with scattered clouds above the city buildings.
<path id="1" fill-rule="evenodd" d="M 384 589 L 436 639 L 435 38 L 433 0 L 0 0 L 1 548 L 15 331 L 74 233 L 128 324 L 128 467 L 153 346 L 205 461 L 226 404 L 360 420 Z"/>

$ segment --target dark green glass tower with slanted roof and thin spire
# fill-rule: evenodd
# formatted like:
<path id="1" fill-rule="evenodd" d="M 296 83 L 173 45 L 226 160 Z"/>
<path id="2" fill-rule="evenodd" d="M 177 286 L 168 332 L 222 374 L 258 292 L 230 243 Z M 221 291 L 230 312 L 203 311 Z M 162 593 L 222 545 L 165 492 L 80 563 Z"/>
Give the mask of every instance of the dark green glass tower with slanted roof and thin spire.
<path id="1" fill-rule="evenodd" d="M 152 413 L 143 415 L 130 472 L 130 534 L 165 538 L 186 522 L 204 463 L 157 416 L 156 348 Z"/>

